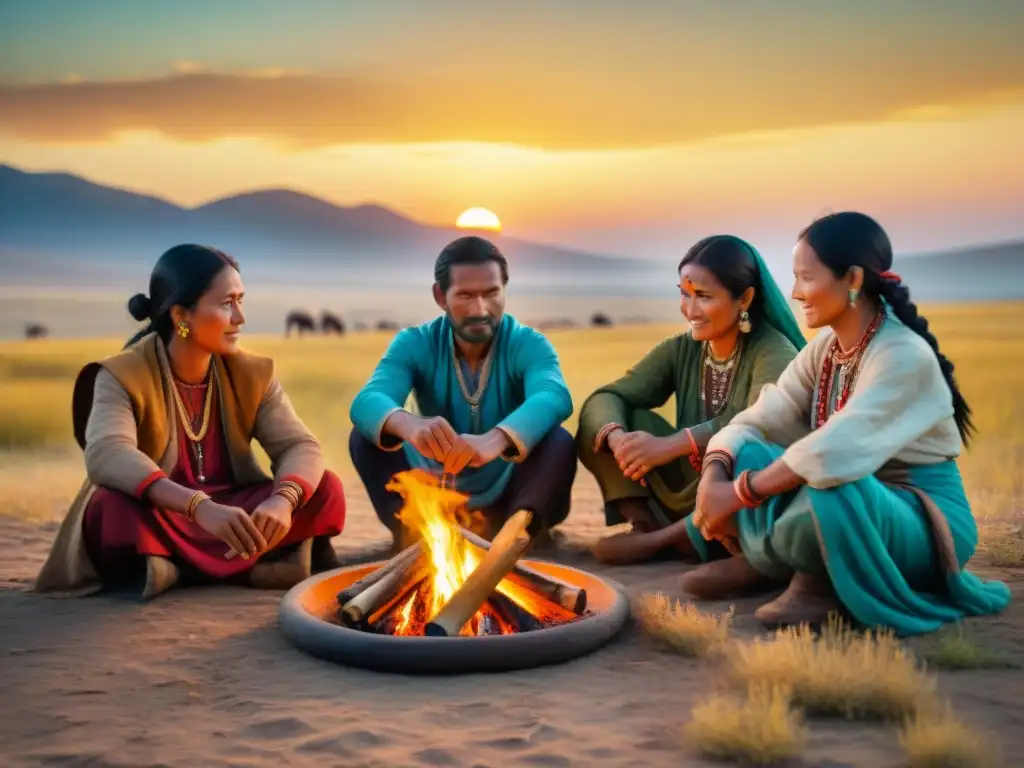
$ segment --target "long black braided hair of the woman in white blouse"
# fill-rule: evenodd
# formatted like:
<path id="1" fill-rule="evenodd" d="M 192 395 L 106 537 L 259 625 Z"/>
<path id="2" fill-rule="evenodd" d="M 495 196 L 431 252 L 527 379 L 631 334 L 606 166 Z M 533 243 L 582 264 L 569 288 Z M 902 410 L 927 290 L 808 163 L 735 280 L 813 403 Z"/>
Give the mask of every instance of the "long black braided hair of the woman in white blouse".
<path id="1" fill-rule="evenodd" d="M 903 282 L 892 274 L 883 276 L 893 266 L 893 249 L 886 230 L 870 216 L 845 211 L 819 218 L 800 233 L 800 240 L 814 249 L 821 263 L 837 278 L 846 276 L 850 267 L 861 267 L 864 270 L 861 292 L 880 303 L 885 300 L 904 326 L 928 342 L 952 392 L 953 418 L 967 444 L 974 424 L 971 408 L 956 385 L 953 364 L 939 351 L 938 340 L 928 330 L 928 321 L 918 313 L 918 306 L 910 300 L 910 291 Z"/>

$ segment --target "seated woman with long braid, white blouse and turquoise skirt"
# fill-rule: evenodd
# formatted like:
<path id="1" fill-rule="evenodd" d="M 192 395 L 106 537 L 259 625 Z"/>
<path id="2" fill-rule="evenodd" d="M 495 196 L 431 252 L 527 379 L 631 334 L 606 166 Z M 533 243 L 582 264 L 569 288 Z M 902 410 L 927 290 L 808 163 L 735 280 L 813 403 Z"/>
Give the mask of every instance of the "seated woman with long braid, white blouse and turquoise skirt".
<path id="1" fill-rule="evenodd" d="M 885 230 L 837 213 L 801 232 L 793 297 L 824 329 L 708 446 L 694 523 L 741 554 L 683 577 L 697 597 L 787 584 L 756 615 L 845 611 L 900 635 L 1002 610 L 965 569 L 978 530 L 956 467 L 971 409 Z"/>

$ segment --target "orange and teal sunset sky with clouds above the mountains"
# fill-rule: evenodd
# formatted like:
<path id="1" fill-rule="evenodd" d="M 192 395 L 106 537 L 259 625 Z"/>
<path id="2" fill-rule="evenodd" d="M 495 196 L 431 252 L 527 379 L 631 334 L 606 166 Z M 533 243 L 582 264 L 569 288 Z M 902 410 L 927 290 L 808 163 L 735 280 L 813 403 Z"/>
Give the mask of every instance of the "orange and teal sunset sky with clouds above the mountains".
<path id="1" fill-rule="evenodd" d="M 713 230 L 781 247 L 826 208 L 902 250 L 1024 236 L 1024 10 L 834 5 L 15 2 L 0 162 L 184 204 L 288 186 L 441 223 L 481 205 L 646 255 Z"/>

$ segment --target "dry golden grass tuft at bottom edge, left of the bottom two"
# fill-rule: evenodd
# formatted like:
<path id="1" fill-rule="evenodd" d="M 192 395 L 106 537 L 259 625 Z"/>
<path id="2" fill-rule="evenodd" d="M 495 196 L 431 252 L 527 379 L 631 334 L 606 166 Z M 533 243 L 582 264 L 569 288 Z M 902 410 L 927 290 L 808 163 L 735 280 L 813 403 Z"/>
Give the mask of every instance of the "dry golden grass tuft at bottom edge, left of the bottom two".
<path id="1" fill-rule="evenodd" d="M 745 696 L 713 695 L 693 708 L 684 733 L 708 757 L 771 765 L 795 757 L 807 739 L 803 718 L 791 703 L 777 685 L 752 685 Z"/>

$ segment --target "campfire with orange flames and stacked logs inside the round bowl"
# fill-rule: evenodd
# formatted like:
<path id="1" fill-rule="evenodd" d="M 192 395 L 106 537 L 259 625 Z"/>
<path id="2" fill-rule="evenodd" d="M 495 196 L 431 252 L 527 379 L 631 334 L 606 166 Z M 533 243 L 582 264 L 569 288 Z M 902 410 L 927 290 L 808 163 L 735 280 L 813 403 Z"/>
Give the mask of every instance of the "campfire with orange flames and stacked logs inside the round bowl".
<path id="1" fill-rule="evenodd" d="M 338 618 L 364 632 L 478 637 L 530 632 L 588 613 L 587 593 L 519 562 L 530 514 L 513 514 L 493 542 L 467 527 L 466 497 L 426 472 L 396 474 L 401 521 L 417 543 L 338 593 Z"/>

